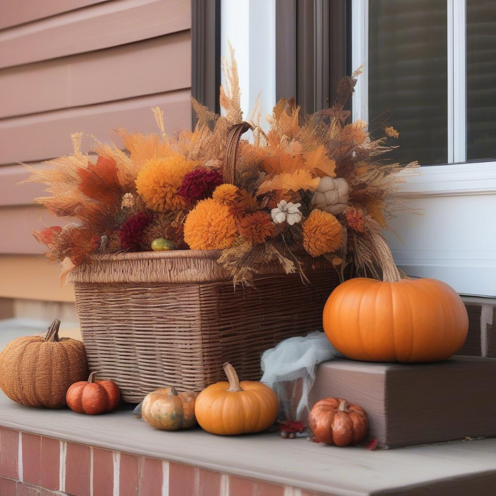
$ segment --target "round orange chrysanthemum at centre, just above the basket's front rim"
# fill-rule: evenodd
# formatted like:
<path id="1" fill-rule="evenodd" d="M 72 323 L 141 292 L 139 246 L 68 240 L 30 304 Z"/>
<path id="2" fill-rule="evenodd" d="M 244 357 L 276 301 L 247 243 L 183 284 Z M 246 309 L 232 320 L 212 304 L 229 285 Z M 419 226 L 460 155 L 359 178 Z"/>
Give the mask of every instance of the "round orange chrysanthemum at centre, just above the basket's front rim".
<path id="1" fill-rule="evenodd" d="M 212 198 L 197 203 L 186 217 L 185 241 L 191 249 L 231 248 L 238 238 L 233 214 Z"/>

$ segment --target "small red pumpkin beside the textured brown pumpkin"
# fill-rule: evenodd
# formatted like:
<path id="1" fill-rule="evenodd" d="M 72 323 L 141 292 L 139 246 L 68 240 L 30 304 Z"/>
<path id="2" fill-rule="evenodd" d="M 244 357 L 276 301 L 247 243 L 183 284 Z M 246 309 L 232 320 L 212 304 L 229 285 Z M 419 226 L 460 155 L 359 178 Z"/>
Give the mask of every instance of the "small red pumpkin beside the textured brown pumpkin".
<path id="1" fill-rule="evenodd" d="M 112 380 L 95 380 L 95 375 L 91 372 L 87 381 L 74 382 L 69 387 L 65 398 L 74 412 L 98 415 L 112 412 L 119 405 L 119 386 Z"/>

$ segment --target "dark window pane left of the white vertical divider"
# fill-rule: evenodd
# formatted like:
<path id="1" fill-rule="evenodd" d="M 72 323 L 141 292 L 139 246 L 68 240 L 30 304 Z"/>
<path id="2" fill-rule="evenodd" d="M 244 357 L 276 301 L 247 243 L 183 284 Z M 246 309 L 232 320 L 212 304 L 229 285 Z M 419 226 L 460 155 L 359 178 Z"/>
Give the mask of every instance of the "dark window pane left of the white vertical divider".
<path id="1" fill-rule="evenodd" d="M 447 162 L 447 2 L 369 2 L 369 127 L 400 133 L 389 158 Z"/>

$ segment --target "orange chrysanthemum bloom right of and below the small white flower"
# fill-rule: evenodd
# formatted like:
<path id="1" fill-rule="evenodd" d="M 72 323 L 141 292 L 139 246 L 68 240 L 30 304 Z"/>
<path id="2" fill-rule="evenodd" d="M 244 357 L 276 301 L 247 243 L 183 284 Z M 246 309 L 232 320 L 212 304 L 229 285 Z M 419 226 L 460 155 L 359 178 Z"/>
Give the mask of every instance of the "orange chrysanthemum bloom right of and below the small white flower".
<path id="1" fill-rule="evenodd" d="M 331 253 L 341 244 L 341 224 L 334 215 L 314 209 L 303 224 L 303 247 L 311 256 Z"/>

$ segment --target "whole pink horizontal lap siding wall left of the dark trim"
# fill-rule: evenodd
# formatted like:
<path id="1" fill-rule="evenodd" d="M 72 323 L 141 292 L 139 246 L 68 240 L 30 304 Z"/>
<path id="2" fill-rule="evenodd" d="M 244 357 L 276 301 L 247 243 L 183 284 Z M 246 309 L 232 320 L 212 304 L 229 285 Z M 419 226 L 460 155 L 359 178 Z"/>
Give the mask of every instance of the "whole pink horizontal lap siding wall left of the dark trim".
<path id="1" fill-rule="evenodd" d="M 43 251 L 33 228 L 60 223 L 32 204 L 43 186 L 18 185 L 21 162 L 71 153 L 77 131 L 156 131 L 155 105 L 168 131 L 191 125 L 189 0 L 24 3 L 0 0 L 0 255 L 17 263 Z"/>

